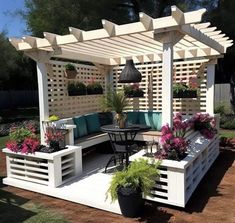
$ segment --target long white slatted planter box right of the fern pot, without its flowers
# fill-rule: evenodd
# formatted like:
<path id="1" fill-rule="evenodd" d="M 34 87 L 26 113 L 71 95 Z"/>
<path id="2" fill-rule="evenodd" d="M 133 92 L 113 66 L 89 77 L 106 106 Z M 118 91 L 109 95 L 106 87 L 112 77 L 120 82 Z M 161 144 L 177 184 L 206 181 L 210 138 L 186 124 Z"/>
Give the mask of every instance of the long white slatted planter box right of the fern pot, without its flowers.
<path id="1" fill-rule="evenodd" d="M 134 154 L 130 161 L 144 156 L 145 151 Z M 160 178 L 148 200 L 185 207 L 192 193 L 219 155 L 219 139 L 205 139 L 197 134 L 191 139 L 189 154 L 181 161 L 162 160 Z"/>

